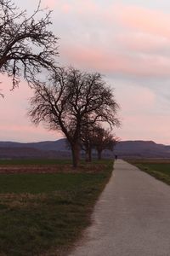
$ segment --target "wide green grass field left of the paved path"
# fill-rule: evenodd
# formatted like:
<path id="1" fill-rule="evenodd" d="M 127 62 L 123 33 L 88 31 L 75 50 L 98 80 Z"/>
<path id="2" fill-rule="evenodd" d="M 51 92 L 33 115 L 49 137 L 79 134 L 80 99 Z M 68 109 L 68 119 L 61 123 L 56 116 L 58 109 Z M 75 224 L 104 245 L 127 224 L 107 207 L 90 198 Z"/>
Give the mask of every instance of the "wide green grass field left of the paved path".
<path id="1" fill-rule="evenodd" d="M 113 163 L 82 163 L 85 172 L 72 173 L 60 164 L 58 173 L 0 174 L 0 255 L 66 255 L 90 224 Z"/>

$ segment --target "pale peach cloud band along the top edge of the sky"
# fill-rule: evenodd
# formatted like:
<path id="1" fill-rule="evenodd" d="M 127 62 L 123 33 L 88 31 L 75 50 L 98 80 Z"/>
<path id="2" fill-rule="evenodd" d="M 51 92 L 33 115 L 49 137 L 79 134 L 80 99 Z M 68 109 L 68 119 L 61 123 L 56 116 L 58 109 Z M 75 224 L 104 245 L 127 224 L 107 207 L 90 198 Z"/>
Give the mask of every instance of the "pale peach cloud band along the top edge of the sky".
<path id="1" fill-rule="evenodd" d="M 92 0 L 59 1 L 43 0 L 42 6 L 54 9 L 56 14 L 73 14 L 74 18 L 98 20 L 107 29 L 122 25 L 138 32 L 170 38 L 170 17 L 161 10 L 146 9 L 136 5 L 107 4 L 105 8 Z M 80 16 L 81 15 L 81 16 Z M 65 19 L 67 19 L 66 17 Z M 108 27 L 109 26 L 109 27 Z"/>

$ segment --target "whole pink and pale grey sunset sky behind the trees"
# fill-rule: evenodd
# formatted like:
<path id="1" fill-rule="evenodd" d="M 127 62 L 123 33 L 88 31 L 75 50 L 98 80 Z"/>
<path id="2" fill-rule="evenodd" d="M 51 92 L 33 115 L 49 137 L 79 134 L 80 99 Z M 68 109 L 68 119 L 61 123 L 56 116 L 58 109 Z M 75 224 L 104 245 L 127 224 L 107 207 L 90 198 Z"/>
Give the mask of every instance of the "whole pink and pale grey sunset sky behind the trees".
<path id="1" fill-rule="evenodd" d="M 15 0 L 28 13 L 37 2 Z M 42 7 L 53 9 L 58 64 L 102 73 L 114 89 L 122 121 L 116 136 L 170 144 L 170 1 L 42 0 Z M 10 91 L 10 81 L 0 80 L 1 141 L 62 137 L 31 124 L 26 111 L 32 90 L 26 82 Z"/>

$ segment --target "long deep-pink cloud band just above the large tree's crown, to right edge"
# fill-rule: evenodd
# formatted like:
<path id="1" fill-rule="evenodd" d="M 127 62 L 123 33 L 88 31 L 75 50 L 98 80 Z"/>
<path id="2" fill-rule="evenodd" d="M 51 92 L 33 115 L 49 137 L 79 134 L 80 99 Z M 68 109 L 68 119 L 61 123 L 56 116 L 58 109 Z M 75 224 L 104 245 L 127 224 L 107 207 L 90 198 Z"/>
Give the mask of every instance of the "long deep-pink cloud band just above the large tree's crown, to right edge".
<path id="1" fill-rule="evenodd" d="M 130 55 L 107 52 L 100 48 L 83 46 L 66 46 L 62 49 L 67 63 L 101 73 L 118 73 L 133 76 L 167 77 L 170 70 L 170 59 L 162 55 Z"/>

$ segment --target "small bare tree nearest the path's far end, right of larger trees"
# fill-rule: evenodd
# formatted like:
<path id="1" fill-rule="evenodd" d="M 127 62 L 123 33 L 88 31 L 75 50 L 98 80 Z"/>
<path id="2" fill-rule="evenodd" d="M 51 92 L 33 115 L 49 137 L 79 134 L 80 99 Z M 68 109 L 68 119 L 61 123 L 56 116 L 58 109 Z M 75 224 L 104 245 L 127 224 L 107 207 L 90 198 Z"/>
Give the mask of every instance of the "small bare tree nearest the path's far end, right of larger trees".
<path id="1" fill-rule="evenodd" d="M 92 145 L 97 150 L 98 159 L 101 160 L 101 154 L 103 150 L 108 149 L 113 151 L 113 148 L 116 146 L 117 138 L 109 130 L 105 130 L 100 125 L 94 127 L 94 137 L 92 139 Z"/>

